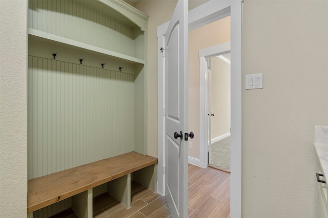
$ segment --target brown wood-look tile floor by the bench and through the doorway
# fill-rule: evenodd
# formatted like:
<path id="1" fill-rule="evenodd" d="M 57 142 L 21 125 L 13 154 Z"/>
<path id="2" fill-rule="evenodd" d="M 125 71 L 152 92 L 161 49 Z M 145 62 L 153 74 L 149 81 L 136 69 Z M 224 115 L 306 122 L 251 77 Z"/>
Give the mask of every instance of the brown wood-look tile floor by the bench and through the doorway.
<path id="1" fill-rule="evenodd" d="M 230 217 L 230 174 L 214 168 L 188 167 L 188 213 L 189 217 Z M 165 196 L 152 192 L 144 186 L 131 186 L 131 208 L 108 194 L 94 199 L 93 217 L 171 217 Z M 63 216 L 61 216 L 63 217 Z M 65 217 L 76 217 L 75 214 Z"/>

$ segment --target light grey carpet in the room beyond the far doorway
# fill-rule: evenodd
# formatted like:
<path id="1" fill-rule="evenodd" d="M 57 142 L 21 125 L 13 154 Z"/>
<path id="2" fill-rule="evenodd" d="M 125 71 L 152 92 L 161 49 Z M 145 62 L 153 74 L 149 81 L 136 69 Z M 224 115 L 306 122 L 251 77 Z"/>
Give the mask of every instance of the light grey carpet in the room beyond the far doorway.
<path id="1" fill-rule="evenodd" d="M 230 173 L 230 136 L 212 143 L 211 152 L 209 166 Z"/>

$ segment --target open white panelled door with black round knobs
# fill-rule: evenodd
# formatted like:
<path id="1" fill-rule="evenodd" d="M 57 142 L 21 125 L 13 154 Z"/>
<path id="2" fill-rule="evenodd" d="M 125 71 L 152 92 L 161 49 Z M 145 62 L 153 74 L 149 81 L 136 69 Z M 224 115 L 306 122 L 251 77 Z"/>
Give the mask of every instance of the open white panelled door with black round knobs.
<path id="1" fill-rule="evenodd" d="M 166 197 L 172 217 L 188 217 L 188 1 L 177 2 L 164 52 Z"/>

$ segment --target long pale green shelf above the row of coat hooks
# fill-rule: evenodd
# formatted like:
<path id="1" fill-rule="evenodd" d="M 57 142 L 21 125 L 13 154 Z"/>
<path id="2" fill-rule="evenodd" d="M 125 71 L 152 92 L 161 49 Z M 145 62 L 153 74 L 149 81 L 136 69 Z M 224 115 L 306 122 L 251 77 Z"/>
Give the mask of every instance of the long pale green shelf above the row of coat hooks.
<path id="1" fill-rule="evenodd" d="M 65 49 L 74 50 L 77 52 L 88 53 L 91 55 L 102 56 L 114 60 L 124 61 L 132 64 L 145 64 L 145 60 L 120 54 L 110 50 L 102 49 L 101 47 L 93 46 L 87 43 L 75 41 L 65 37 L 46 33 L 43 31 L 28 28 L 29 40 L 46 43 L 54 46 L 63 47 Z"/>

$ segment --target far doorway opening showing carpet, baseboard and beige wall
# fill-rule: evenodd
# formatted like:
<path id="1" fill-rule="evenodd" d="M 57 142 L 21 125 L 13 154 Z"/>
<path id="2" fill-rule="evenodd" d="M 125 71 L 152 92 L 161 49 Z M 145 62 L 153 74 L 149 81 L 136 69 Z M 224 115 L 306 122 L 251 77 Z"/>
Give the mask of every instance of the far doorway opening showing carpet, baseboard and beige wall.
<path id="1" fill-rule="evenodd" d="M 230 173 L 230 52 L 206 61 L 208 165 Z"/>

